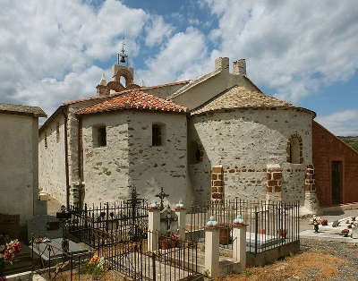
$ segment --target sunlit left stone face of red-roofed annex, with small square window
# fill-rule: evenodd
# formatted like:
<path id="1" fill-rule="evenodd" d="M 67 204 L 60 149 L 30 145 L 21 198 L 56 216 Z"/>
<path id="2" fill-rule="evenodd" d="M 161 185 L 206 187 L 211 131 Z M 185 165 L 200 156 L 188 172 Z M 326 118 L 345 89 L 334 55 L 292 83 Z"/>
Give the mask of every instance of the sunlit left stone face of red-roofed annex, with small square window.
<path id="1" fill-rule="evenodd" d="M 107 126 L 107 146 L 93 147 L 93 126 Z M 116 201 L 129 196 L 128 114 L 89 115 L 82 119 L 85 203 Z"/>

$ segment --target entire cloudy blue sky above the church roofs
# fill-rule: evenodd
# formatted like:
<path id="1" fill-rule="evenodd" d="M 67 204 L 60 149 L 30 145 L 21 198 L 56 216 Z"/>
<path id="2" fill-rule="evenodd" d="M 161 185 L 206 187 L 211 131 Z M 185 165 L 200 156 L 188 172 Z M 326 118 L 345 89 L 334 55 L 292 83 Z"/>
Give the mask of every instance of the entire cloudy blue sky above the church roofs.
<path id="1" fill-rule="evenodd" d="M 358 4 L 279 0 L 0 0 L 0 102 L 95 95 L 125 41 L 147 86 L 192 79 L 218 56 L 246 58 L 266 94 L 358 135 Z"/>

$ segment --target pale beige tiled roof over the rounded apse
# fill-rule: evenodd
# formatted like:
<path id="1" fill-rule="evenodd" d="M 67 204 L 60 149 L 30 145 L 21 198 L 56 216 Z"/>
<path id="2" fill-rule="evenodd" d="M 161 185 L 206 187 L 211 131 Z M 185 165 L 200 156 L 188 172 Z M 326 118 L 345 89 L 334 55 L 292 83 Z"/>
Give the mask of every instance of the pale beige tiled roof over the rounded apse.
<path id="1" fill-rule="evenodd" d="M 204 112 L 215 111 L 230 108 L 251 108 L 251 107 L 277 107 L 277 108 L 296 108 L 312 113 L 311 110 L 303 107 L 294 106 L 278 98 L 267 96 L 260 91 L 248 89 L 246 87 L 234 86 L 226 89 L 217 97 L 212 98 L 204 105 L 192 110 L 192 115 L 198 115 Z"/>

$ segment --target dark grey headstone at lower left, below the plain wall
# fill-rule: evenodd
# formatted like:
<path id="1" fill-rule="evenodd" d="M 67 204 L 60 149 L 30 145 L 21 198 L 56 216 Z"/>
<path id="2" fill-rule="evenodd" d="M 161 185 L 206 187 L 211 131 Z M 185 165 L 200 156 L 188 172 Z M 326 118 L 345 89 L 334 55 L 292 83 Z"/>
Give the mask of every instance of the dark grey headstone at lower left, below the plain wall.
<path id="1" fill-rule="evenodd" d="M 28 237 L 41 236 L 47 238 L 62 237 L 62 228 L 54 216 L 38 215 L 28 221 Z"/>

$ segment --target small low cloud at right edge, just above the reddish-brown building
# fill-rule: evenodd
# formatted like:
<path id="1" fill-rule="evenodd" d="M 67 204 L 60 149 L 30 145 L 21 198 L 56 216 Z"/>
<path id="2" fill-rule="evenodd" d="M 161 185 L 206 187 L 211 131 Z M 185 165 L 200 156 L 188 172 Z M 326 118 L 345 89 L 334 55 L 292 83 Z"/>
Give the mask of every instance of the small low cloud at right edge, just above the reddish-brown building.
<path id="1" fill-rule="evenodd" d="M 338 136 L 358 135 L 358 110 L 345 110 L 319 116 L 316 121 Z"/>

